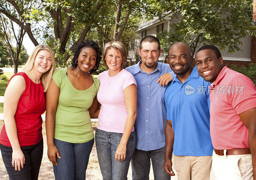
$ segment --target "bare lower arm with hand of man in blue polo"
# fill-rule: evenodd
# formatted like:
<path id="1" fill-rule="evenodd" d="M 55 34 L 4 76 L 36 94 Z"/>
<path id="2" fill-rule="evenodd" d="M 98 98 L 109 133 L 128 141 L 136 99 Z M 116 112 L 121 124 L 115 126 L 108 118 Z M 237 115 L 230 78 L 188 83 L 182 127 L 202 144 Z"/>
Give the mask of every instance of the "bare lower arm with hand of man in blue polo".
<path id="1" fill-rule="evenodd" d="M 167 120 L 165 126 L 165 161 L 164 161 L 164 170 L 170 176 L 175 176 L 172 171 L 172 151 L 173 151 L 173 142 L 174 142 L 174 132 L 172 129 L 172 121 Z"/>

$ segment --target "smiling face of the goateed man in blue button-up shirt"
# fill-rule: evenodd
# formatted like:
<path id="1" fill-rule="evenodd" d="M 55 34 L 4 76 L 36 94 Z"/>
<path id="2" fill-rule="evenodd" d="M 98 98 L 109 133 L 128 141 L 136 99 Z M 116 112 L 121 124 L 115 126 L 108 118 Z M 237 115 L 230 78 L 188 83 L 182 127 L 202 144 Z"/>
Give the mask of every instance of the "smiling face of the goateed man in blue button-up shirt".
<path id="1" fill-rule="evenodd" d="M 155 70 L 157 66 L 157 60 L 161 54 L 161 49 L 158 50 L 158 43 L 156 42 L 143 42 L 141 44 L 141 49 L 138 49 L 139 55 L 141 57 L 141 69 L 143 68 Z"/>

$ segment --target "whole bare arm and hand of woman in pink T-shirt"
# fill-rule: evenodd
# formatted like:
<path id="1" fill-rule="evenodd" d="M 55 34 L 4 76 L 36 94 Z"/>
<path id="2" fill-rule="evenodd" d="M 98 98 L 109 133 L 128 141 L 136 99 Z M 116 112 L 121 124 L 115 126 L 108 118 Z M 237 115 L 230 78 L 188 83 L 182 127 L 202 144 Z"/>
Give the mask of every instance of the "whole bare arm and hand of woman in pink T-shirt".
<path id="1" fill-rule="evenodd" d="M 137 88 L 135 84 L 131 84 L 124 89 L 124 98 L 125 104 L 128 111 L 128 116 L 124 126 L 124 133 L 121 138 L 121 141 L 116 149 L 116 160 L 120 161 L 121 156 L 124 156 L 126 153 L 126 144 L 132 132 L 134 122 L 137 116 Z"/>

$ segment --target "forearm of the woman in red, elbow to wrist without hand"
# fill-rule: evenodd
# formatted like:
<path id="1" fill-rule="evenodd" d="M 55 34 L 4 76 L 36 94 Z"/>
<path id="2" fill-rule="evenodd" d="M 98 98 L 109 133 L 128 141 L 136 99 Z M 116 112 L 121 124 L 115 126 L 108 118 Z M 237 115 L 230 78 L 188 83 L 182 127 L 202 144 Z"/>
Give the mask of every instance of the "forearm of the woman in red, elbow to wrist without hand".
<path id="1" fill-rule="evenodd" d="M 20 143 L 17 135 L 17 126 L 14 117 L 4 117 L 6 134 L 12 145 L 12 150 L 19 150 Z"/>

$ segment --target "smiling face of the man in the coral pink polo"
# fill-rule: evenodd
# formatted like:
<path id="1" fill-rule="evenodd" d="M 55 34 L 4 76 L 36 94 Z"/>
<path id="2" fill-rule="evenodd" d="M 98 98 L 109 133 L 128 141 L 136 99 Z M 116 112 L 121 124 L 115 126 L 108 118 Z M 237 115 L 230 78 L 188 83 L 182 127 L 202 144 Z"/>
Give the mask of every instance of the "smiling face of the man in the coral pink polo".
<path id="1" fill-rule="evenodd" d="M 196 53 L 195 60 L 198 74 L 213 83 L 222 69 L 222 57 L 218 59 L 212 50 L 202 50 Z"/>

